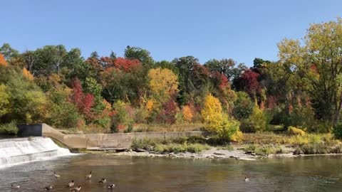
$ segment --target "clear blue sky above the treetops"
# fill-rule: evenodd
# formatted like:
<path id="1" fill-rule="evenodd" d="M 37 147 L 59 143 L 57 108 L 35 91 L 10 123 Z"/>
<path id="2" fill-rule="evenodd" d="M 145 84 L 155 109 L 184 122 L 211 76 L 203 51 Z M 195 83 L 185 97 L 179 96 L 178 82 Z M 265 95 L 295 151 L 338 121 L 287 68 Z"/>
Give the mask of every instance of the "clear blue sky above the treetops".
<path id="1" fill-rule="evenodd" d="M 126 46 L 155 60 L 194 55 L 200 63 L 277 59 L 276 43 L 301 38 L 309 23 L 342 16 L 342 1 L 22 0 L 1 2 L 0 43 L 18 50 L 63 44 L 123 55 Z"/>

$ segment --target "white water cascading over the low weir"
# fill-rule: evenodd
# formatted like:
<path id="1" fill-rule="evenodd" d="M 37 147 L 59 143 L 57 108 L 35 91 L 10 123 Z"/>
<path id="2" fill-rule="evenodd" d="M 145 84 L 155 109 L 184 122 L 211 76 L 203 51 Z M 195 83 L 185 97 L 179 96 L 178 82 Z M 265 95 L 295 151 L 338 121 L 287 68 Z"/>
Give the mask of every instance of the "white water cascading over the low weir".
<path id="1" fill-rule="evenodd" d="M 0 139 L 0 168 L 71 155 L 50 138 Z"/>

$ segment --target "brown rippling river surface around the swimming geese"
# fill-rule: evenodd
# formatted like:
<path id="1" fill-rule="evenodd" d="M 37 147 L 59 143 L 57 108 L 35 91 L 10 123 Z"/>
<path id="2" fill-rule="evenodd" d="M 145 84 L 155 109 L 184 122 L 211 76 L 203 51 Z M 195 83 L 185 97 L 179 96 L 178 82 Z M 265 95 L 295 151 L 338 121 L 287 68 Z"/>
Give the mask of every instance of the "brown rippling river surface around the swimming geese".
<path id="1" fill-rule="evenodd" d="M 0 170 L 0 191 L 110 191 L 98 184 L 115 183 L 113 191 L 342 191 L 341 156 L 316 156 L 260 161 L 192 160 L 118 157 L 86 154 L 38 161 Z M 61 175 L 54 178 L 53 171 Z M 86 181 L 93 171 L 91 181 Z M 244 176 L 249 181 L 244 181 Z"/>

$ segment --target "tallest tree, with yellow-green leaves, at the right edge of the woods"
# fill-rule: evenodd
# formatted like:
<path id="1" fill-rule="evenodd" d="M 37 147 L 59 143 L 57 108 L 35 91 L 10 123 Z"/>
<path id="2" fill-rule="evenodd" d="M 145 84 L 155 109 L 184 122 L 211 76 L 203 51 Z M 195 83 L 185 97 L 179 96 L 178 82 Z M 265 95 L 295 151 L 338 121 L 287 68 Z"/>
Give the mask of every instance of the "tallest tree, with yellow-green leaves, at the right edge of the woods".
<path id="1" fill-rule="evenodd" d="M 298 74 L 313 101 L 317 117 L 336 124 L 342 109 L 342 18 L 311 24 L 304 45 L 285 39 L 278 44 L 281 65 L 286 73 Z M 313 66 L 314 65 L 314 70 Z"/>

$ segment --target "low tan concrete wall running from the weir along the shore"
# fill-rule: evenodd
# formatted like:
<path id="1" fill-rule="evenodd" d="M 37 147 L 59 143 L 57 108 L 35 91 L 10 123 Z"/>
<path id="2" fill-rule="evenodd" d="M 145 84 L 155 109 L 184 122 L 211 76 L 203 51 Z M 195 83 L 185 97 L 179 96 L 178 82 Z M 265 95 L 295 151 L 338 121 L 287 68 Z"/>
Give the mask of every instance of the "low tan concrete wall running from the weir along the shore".
<path id="1" fill-rule="evenodd" d="M 40 126 L 38 126 L 40 125 Z M 202 132 L 133 132 L 117 134 L 63 134 L 48 124 L 19 125 L 21 136 L 46 136 L 57 139 L 59 142 L 73 149 L 128 149 L 133 139 L 166 139 L 176 137 L 190 137 L 202 135 Z M 34 135 L 29 135 L 34 134 Z"/>

